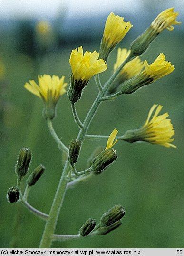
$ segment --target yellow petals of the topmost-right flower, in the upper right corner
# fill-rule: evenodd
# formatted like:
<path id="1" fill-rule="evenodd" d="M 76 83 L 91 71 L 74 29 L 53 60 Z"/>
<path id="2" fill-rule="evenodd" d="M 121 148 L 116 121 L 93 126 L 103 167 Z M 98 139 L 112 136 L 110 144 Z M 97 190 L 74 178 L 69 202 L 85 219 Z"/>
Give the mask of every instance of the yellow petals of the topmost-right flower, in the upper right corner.
<path id="1" fill-rule="evenodd" d="M 158 33 L 162 32 L 164 29 L 172 31 L 174 29 L 172 25 L 181 24 L 181 22 L 176 21 L 177 16 L 178 12 L 174 12 L 174 8 L 166 9 L 155 18 L 151 23 L 151 27 Z"/>

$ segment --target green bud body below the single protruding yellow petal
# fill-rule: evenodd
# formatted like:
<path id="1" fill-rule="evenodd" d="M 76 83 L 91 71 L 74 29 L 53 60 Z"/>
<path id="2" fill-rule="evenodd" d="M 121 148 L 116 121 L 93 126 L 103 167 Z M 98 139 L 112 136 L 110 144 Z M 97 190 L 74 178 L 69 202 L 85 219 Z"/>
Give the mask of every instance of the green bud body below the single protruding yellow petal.
<path id="1" fill-rule="evenodd" d="M 105 149 L 91 162 L 91 168 L 94 172 L 102 172 L 114 162 L 117 158 L 117 152 L 115 149 Z"/>

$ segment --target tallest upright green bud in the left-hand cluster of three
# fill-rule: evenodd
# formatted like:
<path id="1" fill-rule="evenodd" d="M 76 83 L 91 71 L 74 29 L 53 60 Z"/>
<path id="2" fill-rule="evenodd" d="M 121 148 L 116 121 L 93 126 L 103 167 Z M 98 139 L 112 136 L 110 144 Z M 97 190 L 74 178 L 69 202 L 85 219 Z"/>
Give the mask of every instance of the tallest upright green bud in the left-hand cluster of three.
<path id="1" fill-rule="evenodd" d="M 22 178 L 27 174 L 30 161 L 31 161 L 30 149 L 27 149 L 27 148 L 20 149 L 19 156 L 17 159 L 17 164 L 15 166 L 15 172 L 20 178 Z"/>

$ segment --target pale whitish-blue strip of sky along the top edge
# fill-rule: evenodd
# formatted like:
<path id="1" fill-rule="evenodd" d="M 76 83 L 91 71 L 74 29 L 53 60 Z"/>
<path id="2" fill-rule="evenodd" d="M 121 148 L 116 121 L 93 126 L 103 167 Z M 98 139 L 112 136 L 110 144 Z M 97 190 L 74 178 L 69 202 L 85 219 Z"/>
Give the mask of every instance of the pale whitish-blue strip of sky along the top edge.
<path id="1" fill-rule="evenodd" d="M 0 0 L 0 18 L 34 17 L 53 18 L 59 11 L 66 11 L 69 17 L 106 14 L 122 10 L 139 12 L 145 5 L 163 10 L 174 6 L 184 10 L 184 0 Z"/>

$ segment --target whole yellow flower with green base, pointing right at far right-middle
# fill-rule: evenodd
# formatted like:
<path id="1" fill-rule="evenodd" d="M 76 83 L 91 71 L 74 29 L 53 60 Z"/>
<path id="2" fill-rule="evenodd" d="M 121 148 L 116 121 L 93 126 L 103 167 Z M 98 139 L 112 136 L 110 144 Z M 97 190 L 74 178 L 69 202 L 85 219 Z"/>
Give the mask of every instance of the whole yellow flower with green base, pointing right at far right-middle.
<path id="1" fill-rule="evenodd" d="M 123 139 L 131 143 L 143 140 L 167 148 L 176 148 L 175 145 L 171 144 L 174 140 L 174 138 L 172 138 L 174 136 L 174 128 L 171 120 L 167 119 L 169 116 L 168 113 L 158 116 L 162 107 L 161 105 L 154 104 L 148 113 L 145 124 L 137 130 L 127 131 Z M 155 113 L 152 116 L 154 110 Z"/>

